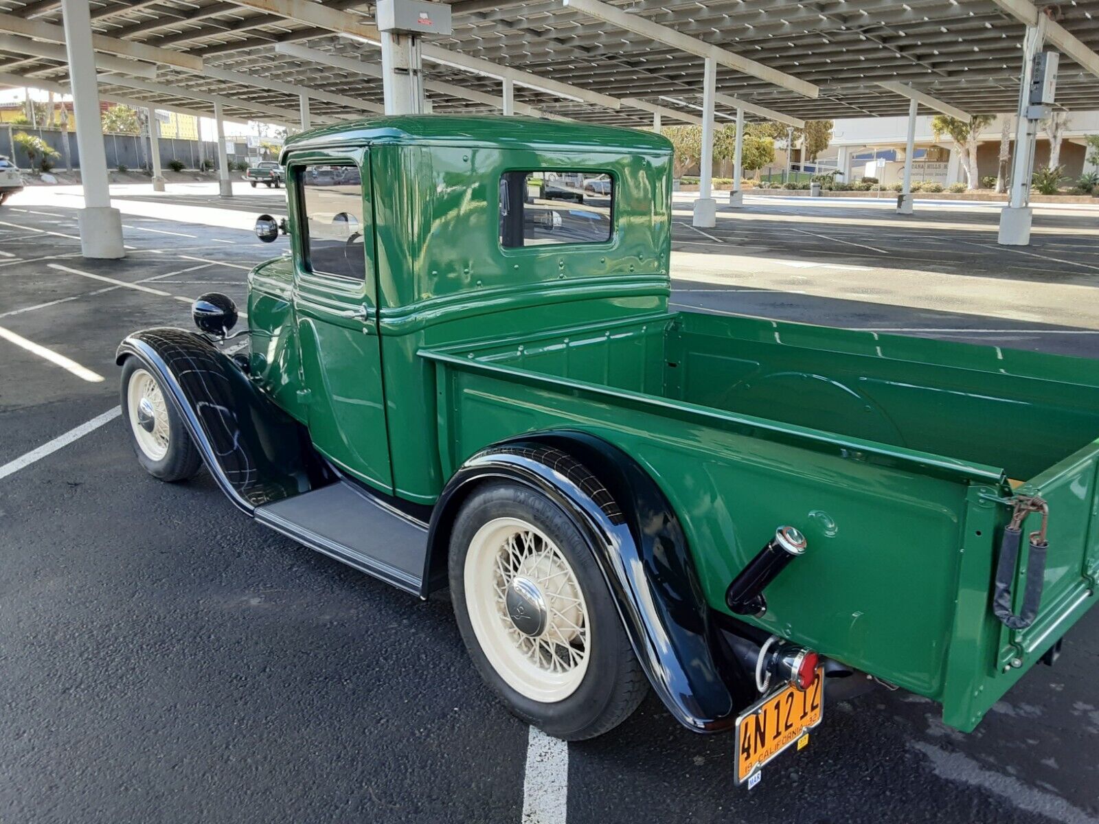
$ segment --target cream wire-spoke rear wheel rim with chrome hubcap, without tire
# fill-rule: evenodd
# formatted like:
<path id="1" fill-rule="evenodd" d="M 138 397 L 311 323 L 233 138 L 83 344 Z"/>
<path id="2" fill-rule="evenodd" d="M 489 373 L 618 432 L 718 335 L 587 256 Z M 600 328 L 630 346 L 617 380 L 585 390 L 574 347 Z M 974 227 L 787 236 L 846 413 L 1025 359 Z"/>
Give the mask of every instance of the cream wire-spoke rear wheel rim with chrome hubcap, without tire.
<path id="1" fill-rule="evenodd" d="M 534 701 L 562 701 L 584 680 L 591 652 L 588 605 L 576 572 L 537 527 L 498 517 L 466 555 L 469 620 L 485 656 Z"/>

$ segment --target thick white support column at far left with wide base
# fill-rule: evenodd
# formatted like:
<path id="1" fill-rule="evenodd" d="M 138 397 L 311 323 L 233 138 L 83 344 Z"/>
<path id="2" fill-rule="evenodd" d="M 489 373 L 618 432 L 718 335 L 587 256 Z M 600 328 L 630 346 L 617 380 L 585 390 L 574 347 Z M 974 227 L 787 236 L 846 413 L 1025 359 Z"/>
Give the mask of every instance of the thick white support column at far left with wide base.
<path id="1" fill-rule="evenodd" d="M 108 188 L 107 152 L 99 114 L 88 0 L 62 0 L 62 16 L 76 113 L 76 142 L 80 152 L 80 182 L 84 187 L 84 209 L 78 212 L 80 250 L 85 257 L 124 257 L 122 216 L 118 209 L 111 208 Z"/>

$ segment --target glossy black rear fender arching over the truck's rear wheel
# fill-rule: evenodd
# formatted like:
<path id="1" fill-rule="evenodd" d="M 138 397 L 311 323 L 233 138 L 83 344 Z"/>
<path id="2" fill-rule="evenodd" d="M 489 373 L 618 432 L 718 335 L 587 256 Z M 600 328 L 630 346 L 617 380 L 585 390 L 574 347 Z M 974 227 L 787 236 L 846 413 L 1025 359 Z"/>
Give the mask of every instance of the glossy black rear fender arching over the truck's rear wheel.
<path id="1" fill-rule="evenodd" d="M 753 675 L 723 655 L 682 527 L 632 458 L 579 432 L 540 433 L 489 447 L 454 475 L 432 513 L 425 587 L 445 579 L 446 543 L 477 483 L 510 480 L 550 497 L 588 538 L 653 689 L 696 732 L 722 732 L 756 698 Z"/>

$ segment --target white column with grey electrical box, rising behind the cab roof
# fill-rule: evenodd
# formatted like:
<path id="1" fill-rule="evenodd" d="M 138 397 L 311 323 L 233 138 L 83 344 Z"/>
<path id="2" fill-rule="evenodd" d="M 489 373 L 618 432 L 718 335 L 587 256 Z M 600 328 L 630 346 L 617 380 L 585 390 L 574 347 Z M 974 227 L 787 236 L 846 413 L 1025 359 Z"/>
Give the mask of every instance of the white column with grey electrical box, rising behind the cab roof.
<path id="1" fill-rule="evenodd" d="M 451 34 L 451 7 L 424 0 L 379 0 L 377 25 L 386 114 L 425 113 L 420 38 Z"/>

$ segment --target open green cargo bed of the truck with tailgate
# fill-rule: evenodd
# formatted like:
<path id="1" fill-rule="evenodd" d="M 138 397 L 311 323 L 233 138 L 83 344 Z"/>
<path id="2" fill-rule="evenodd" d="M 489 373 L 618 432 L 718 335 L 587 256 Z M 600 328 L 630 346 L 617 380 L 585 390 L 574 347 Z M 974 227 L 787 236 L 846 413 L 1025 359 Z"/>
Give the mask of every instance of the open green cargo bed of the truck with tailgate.
<path id="1" fill-rule="evenodd" d="M 700 313 L 421 355 L 444 476 L 525 432 L 599 435 L 665 489 L 721 611 L 735 574 L 793 524 L 810 552 L 750 620 L 942 702 L 959 728 L 1094 602 L 1095 361 Z M 1015 489 L 1051 506 L 1024 631 L 990 608 Z"/>

